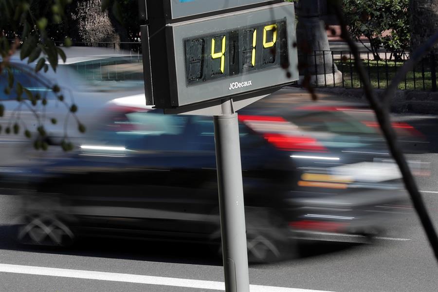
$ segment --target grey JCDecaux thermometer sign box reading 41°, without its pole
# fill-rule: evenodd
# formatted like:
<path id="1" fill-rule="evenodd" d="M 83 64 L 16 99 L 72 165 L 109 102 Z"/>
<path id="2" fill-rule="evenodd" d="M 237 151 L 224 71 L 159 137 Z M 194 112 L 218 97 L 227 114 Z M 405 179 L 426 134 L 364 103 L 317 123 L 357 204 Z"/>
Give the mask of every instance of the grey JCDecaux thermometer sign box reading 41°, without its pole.
<path id="1" fill-rule="evenodd" d="M 147 104 L 254 97 L 298 79 L 293 3 L 239 0 L 226 6 L 231 12 L 205 16 L 232 1 L 152 2 L 142 28 Z"/>

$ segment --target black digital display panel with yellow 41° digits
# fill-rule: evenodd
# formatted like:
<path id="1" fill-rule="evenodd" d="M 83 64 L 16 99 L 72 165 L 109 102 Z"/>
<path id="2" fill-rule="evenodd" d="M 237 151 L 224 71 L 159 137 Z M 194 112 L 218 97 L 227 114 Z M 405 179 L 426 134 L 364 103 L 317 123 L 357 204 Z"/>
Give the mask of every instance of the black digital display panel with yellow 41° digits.
<path id="1" fill-rule="evenodd" d="M 289 64 L 285 20 L 184 40 L 190 85 Z"/>

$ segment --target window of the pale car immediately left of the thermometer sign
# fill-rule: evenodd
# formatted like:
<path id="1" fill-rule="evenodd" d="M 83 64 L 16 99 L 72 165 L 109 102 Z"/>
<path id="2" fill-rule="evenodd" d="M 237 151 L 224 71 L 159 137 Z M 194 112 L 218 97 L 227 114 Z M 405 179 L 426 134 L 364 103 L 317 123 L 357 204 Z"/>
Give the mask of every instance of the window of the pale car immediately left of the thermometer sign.
<path id="1" fill-rule="evenodd" d="M 97 91 L 136 90 L 144 88 L 140 55 L 98 57 L 64 65 L 76 71 Z"/>

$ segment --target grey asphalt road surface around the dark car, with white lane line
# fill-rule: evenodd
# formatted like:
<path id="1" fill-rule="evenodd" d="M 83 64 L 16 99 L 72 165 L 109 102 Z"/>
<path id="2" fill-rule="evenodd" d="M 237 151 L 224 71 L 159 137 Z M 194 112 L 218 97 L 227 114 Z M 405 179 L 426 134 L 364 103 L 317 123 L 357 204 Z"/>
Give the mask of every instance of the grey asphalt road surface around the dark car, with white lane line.
<path id="1" fill-rule="evenodd" d="M 438 226 L 438 125 L 435 117 L 407 116 L 431 141 L 430 154 L 408 159 L 430 163 L 418 179 Z M 0 192 L 2 194 L 7 191 Z M 199 292 L 223 289 L 221 260 L 208 246 L 99 239 L 69 250 L 18 246 L 15 197 L 0 195 L 0 292 Z M 251 265 L 253 291 L 437 291 L 438 265 L 415 214 L 394 224 L 373 243 L 300 242 L 301 255 L 270 265 Z M 183 280 L 188 279 L 188 280 Z M 290 289 L 279 289 L 285 287 Z M 304 289 L 304 290 L 299 290 Z"/>

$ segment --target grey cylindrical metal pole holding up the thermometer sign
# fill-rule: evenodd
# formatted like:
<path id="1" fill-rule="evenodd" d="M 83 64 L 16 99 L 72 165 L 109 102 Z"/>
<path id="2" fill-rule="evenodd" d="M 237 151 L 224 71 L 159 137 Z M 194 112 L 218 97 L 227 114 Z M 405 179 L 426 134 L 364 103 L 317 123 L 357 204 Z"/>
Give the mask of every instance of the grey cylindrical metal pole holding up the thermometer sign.
<path id="1" fill-rule="evenodd" d="M 249 292 L 245 209 L 237 113 L 231 99 L 214 116 L 220 232 L 226 292 Z"/>

